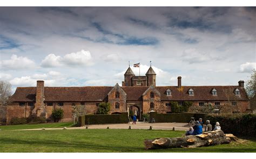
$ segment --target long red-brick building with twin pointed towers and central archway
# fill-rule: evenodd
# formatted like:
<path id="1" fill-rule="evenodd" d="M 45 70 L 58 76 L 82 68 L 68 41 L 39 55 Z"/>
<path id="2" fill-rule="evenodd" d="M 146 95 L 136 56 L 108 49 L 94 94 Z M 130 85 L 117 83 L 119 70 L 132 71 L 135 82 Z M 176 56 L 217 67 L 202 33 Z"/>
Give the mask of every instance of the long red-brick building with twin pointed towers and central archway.
<path id="1" fill-rule="evenodd" d="M 152 67 L 146 76 L 135 76 L 129 67 L 122 86 L 49 87 L 37 81 L 36 87 L 17 87 L 9 100 L 7 124 L 13 117 L 28 118 L 31 114 L 49 118 L 57 107 L 64 110 L 63 121 L 72 121 L 72 105 L 85 105 L 87 113 L 97 113 L 101 102 L 111 104 L 111 114 L 136 110 L 138 118 L 151 110 L 170 113 L 170 101 L 192 101 L 196 106 L 230 104 L 235 112 L 245 112 L 250 105 L 244 81 L 228 86 L 183 86 L 179 76 L 177 86 L 156 86 Z"/>

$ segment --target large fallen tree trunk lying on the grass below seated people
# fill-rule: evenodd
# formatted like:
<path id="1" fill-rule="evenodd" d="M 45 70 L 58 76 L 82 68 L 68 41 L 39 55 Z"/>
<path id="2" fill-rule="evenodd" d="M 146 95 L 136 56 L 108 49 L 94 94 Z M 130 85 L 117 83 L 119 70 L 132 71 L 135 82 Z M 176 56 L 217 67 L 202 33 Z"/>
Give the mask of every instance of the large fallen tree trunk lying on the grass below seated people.
<path id="1" fill-rule="evenodd" d="M 233 141 L 237 139 L 232 134 L 227 134 Z M 146 139 L 144 141 L 145 149 L 164 149 L 164 148 L 177 148 L 177 147 L 202 147 L 213 146 L 216 144 L 230 143 L 231 138 L 228 138 L 223 131 L 204 132 L 200 135 L 190 135 L 183 138 L 157 138 L 154 140 Z"/>

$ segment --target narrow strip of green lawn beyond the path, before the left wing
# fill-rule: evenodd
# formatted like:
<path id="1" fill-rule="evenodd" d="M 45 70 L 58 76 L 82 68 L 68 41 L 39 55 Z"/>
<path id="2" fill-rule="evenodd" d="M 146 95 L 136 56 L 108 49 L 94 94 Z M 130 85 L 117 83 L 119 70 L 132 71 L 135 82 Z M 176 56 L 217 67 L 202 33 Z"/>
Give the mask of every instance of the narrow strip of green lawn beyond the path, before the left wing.
<path id="1" fill-rule="evenodd" d="M 15 130 L 15 129 L 33 129 L 33 128 L 58 128 L 58 127 L 72 127 L 73 122 L 53 122 L 45 124 L 24 124 L 24 125 L 5 125 L 0 126 L 2 130 Z"/>

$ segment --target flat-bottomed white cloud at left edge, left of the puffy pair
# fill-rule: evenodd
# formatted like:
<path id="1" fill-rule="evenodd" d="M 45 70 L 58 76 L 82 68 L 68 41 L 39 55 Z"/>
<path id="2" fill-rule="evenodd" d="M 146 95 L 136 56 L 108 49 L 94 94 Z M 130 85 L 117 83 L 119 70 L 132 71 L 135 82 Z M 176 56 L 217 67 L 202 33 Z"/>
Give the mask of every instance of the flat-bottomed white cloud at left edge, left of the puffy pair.
<path id="1" fill-rule="evenodd" d="M 35 63 L 28 57 L 12 54 L 10 60 L 0 61 L 0 67 L 4 69 L 30 69 L 35 67 Z"/>

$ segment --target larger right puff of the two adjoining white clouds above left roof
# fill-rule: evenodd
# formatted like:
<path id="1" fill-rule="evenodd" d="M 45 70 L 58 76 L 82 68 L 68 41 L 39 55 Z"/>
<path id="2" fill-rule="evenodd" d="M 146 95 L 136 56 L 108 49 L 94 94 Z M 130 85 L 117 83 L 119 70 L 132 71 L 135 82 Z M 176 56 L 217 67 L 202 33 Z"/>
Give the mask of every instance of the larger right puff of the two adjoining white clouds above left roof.
<path id="1" fill-rule="evenodd" d="M 82 49 L 80 52 L 66 54 L 63 57 L 63 62 L 71 66 L 90 65 L 92 64 L 91 59 L 91 53 Z"/>

